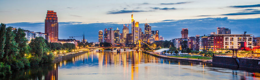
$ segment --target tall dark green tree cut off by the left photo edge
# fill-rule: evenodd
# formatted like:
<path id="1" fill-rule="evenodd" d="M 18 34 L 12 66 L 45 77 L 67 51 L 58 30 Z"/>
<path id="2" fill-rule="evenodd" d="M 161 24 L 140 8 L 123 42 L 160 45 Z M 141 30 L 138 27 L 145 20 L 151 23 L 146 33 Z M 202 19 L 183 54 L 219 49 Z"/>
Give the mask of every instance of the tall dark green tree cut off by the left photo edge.
<path id="1" fill-rule="evenodd" d="M 4 47 L 5 47 L 5 26 L 6 24 L 1 23 L 0 24 L 0 61 L 3 59 L 3 54 L 4 54 Z"/>

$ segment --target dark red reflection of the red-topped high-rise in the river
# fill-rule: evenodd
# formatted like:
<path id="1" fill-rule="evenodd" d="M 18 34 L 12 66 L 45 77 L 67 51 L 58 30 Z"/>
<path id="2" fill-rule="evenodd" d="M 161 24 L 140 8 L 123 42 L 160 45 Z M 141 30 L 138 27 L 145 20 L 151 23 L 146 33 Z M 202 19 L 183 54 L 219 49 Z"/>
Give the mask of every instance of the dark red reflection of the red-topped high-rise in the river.
<path id="1" fill-rule="evenodd" d="M 44 76 L 44 80 L 58 80 L 58 66 L 54 64 L 54 69 Z"/>

